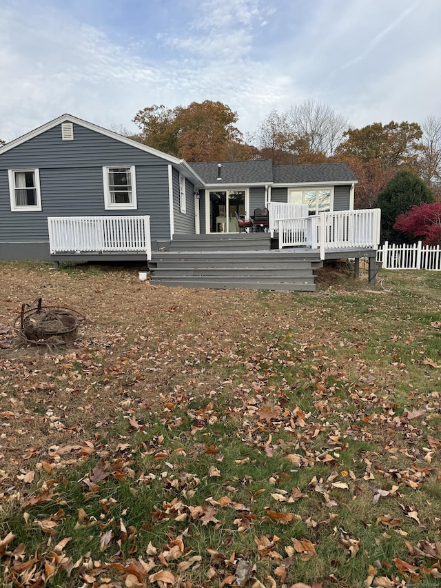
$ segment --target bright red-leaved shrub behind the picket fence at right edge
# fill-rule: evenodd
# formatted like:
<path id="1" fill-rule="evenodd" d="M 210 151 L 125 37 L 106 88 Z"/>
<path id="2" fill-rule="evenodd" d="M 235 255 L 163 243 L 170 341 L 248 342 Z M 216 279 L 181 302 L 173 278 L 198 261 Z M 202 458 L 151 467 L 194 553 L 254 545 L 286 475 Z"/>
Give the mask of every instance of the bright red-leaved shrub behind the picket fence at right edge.
<path id="1" fill-rule="evenodd" d="M 441 202 L 413 206 L 398 216 L 393 229 L 422 239 L 424 245 L 441 245 Z"/>

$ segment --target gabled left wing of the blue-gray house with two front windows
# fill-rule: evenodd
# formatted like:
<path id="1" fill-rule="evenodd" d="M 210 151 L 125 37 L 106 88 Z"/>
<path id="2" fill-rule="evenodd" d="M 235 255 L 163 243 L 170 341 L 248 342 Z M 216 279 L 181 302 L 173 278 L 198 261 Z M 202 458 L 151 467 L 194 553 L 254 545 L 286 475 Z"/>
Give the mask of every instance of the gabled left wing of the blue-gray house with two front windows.
<path id="1" fill-rule="evenodd" d="M 196 232 L 201 187 L 185 161 L 64 114 L 0 148 L 0 258 L 54 259 L 48 218 L 150 216 L 157 248 L 173 234 Z M 132 243 L 121 255 L 74 250 L 61 257 L 85 254 L 133 259 L 145 252 Z"/>

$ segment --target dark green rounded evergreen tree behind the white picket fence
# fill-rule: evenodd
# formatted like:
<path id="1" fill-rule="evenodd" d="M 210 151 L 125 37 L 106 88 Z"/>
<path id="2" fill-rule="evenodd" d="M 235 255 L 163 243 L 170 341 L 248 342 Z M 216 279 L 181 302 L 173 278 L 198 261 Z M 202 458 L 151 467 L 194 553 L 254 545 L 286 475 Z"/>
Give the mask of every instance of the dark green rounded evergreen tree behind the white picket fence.
<path id="1" fill-rule="evenodd" d="M 433 195 L 427 185 L 412 172 L 400 170 L 378 194 L 374 206 L 381 209 L 382 241 L 402 243 L 402 232 L 393 228 L 400 214 L 409 212 L 413 206 L 433 203 Z"/>

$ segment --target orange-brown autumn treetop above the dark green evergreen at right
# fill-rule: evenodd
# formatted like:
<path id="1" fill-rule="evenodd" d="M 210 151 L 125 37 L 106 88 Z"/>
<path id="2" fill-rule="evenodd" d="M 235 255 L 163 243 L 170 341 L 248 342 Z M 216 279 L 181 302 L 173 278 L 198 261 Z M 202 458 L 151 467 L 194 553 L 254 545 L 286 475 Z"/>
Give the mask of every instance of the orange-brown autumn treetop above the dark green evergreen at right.
<path id="1" fill-rule="evenodd" d="M 418 123 L 373 123 L 361 129 L 349 129 L 336 152 L 360 161 L 378 160 L 383 170 L 405 165 L 418 169 L 422 130 Z"/>

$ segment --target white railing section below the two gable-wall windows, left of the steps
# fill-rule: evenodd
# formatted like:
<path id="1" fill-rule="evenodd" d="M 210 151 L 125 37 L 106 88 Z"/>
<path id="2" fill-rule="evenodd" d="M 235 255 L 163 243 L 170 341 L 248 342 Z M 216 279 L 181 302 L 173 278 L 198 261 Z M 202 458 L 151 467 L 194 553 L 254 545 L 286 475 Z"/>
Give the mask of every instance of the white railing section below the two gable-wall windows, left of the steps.
<path id="1" fill-rule="evenodd" d="M 50 252 L 134 252 L 152 258 L 150 216 L 48 216 Z"/>

